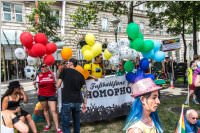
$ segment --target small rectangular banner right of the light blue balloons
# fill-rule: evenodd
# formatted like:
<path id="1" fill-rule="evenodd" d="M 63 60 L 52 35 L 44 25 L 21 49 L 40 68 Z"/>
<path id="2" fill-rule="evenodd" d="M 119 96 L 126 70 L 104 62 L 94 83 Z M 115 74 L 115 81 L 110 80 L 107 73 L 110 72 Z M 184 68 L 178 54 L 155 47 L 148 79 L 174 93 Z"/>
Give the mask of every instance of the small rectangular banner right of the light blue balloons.
<path id="1" fill-rule="evenodd" d="M 162 51 L 172 51 L 181 48 L 180 38 L 163 40 L 162 43 Z"/>

